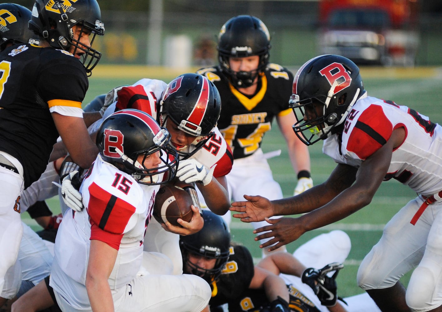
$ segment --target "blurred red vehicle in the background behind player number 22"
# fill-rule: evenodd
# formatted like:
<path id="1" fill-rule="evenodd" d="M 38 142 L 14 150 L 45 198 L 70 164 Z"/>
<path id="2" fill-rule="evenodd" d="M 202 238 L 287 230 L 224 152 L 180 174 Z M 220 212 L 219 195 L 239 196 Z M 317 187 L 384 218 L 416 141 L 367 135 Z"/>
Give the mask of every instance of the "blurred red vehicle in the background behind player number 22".
<path id="1" fill-rule="evenodd" d="M 320 0 L 320 53 L 362 65 L 413 66 L 417 0 Z"/>

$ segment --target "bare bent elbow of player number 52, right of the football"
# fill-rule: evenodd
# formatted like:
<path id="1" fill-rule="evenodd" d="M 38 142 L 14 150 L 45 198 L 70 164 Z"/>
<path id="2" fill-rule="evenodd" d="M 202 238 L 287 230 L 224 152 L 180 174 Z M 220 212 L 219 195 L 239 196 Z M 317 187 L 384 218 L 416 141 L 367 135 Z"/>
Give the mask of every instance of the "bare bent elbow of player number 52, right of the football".
<path id="1" fill-rule="evenodd" d="M 195 185 L 201 191 L 207 207 L 213 213 L 222 216 L 229 211 L 230 198 L 225 175 L 212 179 L 206 186 L 203 186 L 201 183 L 195 183 Z"/>

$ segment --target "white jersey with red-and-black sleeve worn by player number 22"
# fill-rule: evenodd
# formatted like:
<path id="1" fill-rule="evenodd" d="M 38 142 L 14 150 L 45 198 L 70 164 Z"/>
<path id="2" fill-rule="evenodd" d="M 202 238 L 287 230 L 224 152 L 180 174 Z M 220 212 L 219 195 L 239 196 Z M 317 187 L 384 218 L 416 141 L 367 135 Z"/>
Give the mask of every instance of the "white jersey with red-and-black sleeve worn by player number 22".
<path id="1" fill-rule="evenodd" d="M 359 167 L 400 127 L 405 129 L 405 140 L 392 153 L 385 181 L 396 179 L 425 196 L 438 193 L 442 190 L 442 128 L 406 106 L 362 96 L 345 120 L 342 142 L 336 134 L 328 137 L 323 152 L 337 163 Z"/>

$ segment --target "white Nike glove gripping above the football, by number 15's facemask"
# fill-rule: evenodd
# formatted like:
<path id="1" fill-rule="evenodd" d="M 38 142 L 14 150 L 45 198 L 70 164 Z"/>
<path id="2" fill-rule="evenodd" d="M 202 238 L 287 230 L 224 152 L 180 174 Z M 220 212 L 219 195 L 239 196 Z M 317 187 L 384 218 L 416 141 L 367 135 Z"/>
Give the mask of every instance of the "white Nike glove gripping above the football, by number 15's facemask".
<path id="1" fill-rule="evenodd" d="M 216 165 L 209 170 L 206 168 L 206 166 L 199 163 L 198 160 L 180 160 L 178 170 L 176 171 L 176 176 L 181 182 L 199 182 L 206 186 L 212 181 L 213 170 L 215 170 L 215 167 Z"/>

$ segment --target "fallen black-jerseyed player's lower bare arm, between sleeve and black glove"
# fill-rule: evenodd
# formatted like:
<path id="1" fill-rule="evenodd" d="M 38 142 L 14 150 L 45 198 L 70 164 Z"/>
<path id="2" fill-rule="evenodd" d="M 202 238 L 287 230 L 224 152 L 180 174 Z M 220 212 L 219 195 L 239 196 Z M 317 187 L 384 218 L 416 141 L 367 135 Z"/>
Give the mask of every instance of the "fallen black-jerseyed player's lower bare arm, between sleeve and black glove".
<path id="1" fill-rule="evenodd" d="M 279 297 L 289 302 L 289 291 L 286 283 L 278 275 L 275 275 L 259 266 L 255 266 L 255 274 L 249 285 L 250 289 L 263 288 L 266 292 L 267 299 L 274 301 Z"/>

